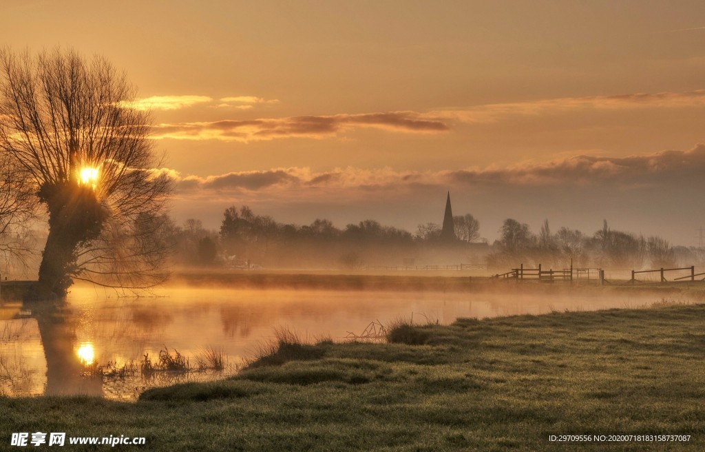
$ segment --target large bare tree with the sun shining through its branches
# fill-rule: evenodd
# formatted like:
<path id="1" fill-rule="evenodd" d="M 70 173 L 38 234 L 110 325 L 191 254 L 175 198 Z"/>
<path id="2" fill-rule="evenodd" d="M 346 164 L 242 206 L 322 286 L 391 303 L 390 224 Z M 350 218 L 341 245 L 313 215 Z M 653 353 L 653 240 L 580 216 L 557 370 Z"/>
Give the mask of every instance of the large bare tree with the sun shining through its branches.
<path id="1" fill-rule="evenodd" d="M 106 59 L 75 51 L 0 51 L 0 152 L 11 157 L 49 237 L 39 294 L 73 279 L 146 287 L 165 278 L 158 236 L 171 191 L 148 140 L 149 114 Z"/>

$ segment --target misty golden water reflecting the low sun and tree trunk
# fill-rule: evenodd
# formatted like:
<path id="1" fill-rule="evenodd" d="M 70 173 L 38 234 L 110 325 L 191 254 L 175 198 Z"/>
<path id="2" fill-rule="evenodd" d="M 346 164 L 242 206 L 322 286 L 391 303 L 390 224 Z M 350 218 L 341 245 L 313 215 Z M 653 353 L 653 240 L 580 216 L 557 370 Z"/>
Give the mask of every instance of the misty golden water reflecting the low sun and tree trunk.
<path id="1" fill-rule="evenodd" d="M 458 317 L 540 314 L 653 303 L 656 295 L 604 293 L 416 293 L 248 291 L 165 288 L 153 298 L 74 288 L 65 305 L 0 305 L 0 391 L 11 396 L 87 394 L 135 398 L 148 387 L 222 377 L 216 372 L 143 375 L 140 362 L 168 347 L 195 366 L 207 347 L 236 365 L 276 326 L 342 339 L 372 321 L 414 316 L 450 323 Z M 120 369 L 123 369 L 121 371 Z M 131 369 L 131 370 L 125 370 Z M 99 376 L 96 376 L 96 375 Z"/>

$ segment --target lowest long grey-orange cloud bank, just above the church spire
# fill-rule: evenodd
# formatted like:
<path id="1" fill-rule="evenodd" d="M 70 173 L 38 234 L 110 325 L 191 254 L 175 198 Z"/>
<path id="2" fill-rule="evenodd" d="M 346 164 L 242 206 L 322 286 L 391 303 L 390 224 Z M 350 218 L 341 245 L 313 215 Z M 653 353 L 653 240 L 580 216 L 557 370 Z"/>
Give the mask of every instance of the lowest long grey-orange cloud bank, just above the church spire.
<path id="1" fill-rule="evenodd" d="M 182 177 L 173 170 L 161 170 L 172 177 L 181 192 L 266 191 L 293 188 L 295 196 L 307 190 L 404 190 L 419 185 L 439 187 L 603 187 L 658 186 L 666 183 L 699 183 L 705 172 L 705 145 L 689 151 L 663 151 L 630 157 L 582 155 L 545 163 L 527 163 L 505 168 L 446 171 L 396 171 L 338 168 L 314 172 L 309 168 L 276 168 L 265 171 L 231 172 L 216 176 Z"/>

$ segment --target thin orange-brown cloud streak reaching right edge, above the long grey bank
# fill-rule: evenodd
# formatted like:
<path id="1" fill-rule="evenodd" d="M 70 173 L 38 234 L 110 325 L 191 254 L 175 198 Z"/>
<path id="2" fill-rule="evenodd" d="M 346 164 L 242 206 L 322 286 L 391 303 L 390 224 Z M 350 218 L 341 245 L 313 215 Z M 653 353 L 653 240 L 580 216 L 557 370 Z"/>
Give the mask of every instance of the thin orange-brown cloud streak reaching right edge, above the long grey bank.
<path id="1" fill-rule="evenodd" d="M 594 97 L 561 97 L 529 102 L 484 104 L 458 109 L 439 109 L 429 114 L 465 123 L 493 123 L 506 116 L 560 114 L 577 110 L 685 108 L 705 106 L 705 90 L 616 94 Z"/>

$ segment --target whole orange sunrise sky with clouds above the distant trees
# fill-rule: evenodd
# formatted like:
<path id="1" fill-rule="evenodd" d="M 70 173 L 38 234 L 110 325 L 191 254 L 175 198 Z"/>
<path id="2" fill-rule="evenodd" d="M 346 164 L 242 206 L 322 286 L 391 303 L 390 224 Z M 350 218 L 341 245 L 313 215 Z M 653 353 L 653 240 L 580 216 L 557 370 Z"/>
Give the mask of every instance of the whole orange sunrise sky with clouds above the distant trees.
<path id="1" fill-rule="evenodd" d="M 705 224 L 701 1 L 97 3 L 4 1 L 0 42 L 124 68 L 180 221 L 413 231 L 450 190 L 490 240 L 508 217 L 684 245 Z"/>

